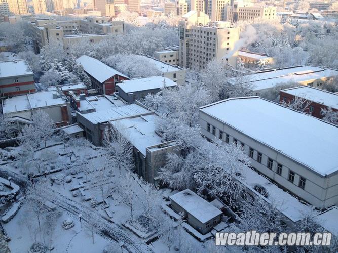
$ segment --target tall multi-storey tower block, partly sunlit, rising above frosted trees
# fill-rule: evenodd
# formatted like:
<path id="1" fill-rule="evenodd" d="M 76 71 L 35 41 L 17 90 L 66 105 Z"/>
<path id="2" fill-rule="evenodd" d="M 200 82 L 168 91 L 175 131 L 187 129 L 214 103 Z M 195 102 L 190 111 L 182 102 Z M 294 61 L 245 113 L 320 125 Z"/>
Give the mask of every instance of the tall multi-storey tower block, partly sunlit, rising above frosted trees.
<path id="1" fill-rule="evenodd" d="M 201 70 L 212 59 L 236 66 L 238 50 L 235 44 L 239 40 L 239 28 L 230 27 L 229 22 L 209 23 L 206 14 L 197 15 L 198 12 L 191 11 L 179 22 L 180 66 Z"/>

